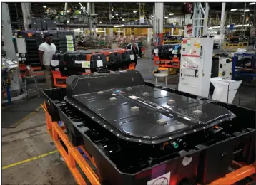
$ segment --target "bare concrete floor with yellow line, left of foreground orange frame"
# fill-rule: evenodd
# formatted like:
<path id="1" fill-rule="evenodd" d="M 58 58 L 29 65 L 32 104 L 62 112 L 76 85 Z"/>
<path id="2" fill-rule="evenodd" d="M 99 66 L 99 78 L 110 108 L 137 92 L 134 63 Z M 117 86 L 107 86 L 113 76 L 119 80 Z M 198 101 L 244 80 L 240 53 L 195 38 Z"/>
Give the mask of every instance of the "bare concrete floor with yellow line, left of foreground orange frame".
<path id="1" fill-rule="evenodd" d="M 56 150 L 46 132 L 44 111 L 18 127 L 2 129 L 2 166 Z M 2 184 L 76 184 L 59 153 L 2 169 Z"/>

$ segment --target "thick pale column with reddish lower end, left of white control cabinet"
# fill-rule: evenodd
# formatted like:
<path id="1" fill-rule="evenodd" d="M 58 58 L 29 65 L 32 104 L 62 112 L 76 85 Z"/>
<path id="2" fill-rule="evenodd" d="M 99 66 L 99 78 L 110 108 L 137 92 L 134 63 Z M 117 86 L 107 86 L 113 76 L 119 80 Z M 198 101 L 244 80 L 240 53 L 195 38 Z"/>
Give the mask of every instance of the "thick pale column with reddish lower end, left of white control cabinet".
<path id="1" fill-rule="evenodd" d="M 156 16 L 156 30 L 157 30 L 157 37 L 158 44 L 163 43 L 163 30 L 164 30 L 164 3 L 155 3 L 154 4 L 154 12 Z"/>

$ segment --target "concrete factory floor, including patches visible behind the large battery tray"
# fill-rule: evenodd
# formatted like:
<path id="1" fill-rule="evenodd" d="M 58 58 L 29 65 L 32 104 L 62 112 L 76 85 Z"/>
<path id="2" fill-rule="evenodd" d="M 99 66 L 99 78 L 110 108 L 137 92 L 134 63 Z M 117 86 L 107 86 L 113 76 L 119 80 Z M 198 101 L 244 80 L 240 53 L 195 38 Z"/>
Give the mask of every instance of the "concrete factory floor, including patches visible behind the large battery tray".
<path id="1" fill-rule="evenodd" d="M 137 70 L 152 83 L 154 69 L 153 60 L 142 58 L 137 63 Z M 167 81 L 169 88 L 177 88 L 177 75 L 169 75 Z M 43 89 L 44 80 L 39 83 Z M 76 184 L 46 132 L 44 110 L 39 108 L 43 100 L 34 96 L 2 109 L 2 184 Z M 240 105 L 255 109 L 254 87 L 242 87 Z"/>

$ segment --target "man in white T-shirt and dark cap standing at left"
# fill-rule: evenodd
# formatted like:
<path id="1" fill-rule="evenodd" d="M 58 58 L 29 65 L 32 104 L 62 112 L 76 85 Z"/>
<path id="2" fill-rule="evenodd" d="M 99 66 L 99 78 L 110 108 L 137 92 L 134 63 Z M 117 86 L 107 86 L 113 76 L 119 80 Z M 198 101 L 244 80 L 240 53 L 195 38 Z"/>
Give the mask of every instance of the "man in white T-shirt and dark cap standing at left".
<path id="1" fill-rule="evenodd" d="M 51 59 L 54 53 L 57 53 L 55 44 L 51 43 L 51 37 L 52 34 L 44 33 L 45 42 L 41 43 L 38 48 L 39 61 L 42 68 L 45 70 L 47 88 L 52 88 Z"/>

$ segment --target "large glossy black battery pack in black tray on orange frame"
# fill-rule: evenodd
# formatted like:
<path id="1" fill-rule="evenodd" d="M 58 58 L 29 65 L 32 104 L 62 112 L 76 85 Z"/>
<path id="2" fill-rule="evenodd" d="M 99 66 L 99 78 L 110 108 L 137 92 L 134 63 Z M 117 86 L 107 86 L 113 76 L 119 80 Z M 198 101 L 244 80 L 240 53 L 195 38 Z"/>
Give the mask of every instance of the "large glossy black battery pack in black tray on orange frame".
<path id="1" fill-rule="evenodd" d="M 66 137 L 54 123 L 61 120 L 69 141 L 83 145 L 97 169 L 82 167 L 92 184 L 210 184 L 233 159 L 255 162 L 253 110 L 145 85 L 136 70 L 72 75 L 66 83 L 44 90 L 47 129 L 61 148 L 58 135 Z M 68 160 L 83 164 L 66 146 L 61 155 L 82 184 Z"/>

